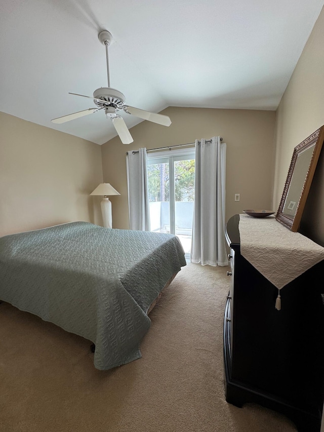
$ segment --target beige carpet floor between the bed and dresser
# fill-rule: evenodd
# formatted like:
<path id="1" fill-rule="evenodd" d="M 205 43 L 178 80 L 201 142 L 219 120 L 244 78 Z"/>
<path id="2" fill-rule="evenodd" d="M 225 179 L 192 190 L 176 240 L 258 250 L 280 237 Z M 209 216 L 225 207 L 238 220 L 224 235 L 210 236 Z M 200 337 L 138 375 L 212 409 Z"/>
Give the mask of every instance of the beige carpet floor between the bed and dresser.
<path id="1" fill-rule="evenodd" d="M 278 413 L 225 401 L 227 270 L 184 267 L 150 314 L 142 359 L 104 372 L 93 366 L 89 341 L 2 303 L 0 430 L 296 430 Z"/>

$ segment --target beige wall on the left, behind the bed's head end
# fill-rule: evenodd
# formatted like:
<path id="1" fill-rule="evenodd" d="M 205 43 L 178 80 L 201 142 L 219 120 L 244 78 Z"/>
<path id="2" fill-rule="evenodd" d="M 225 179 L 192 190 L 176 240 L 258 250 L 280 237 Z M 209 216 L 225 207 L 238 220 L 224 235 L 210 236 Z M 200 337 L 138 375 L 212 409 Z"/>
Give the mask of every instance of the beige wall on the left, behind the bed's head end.
<path id="1" fill-rule="evenodd" d="M 0 113 L 0 235 L 83 220 L 102 224 L 89 193 L 101 147 Z"/>

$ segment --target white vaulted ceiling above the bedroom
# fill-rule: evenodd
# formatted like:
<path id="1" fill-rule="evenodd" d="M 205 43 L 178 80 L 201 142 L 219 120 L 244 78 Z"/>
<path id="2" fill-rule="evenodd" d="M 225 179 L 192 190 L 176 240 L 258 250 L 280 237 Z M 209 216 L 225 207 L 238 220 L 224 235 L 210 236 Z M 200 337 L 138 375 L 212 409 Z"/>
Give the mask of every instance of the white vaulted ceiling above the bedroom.
<path id="1" fill-rule="evenodd" d="M 114 39 L 111 87 L 129 105 L 274 110 L 323 3 L 1 0 L 0 110 L 97 144 L 116 136 L 103 111 L 51 123 L 95 106 L 68 92 L 107 86 L 102 29 Z M 141 121 L 123 117 L 129 128 Z"/>

